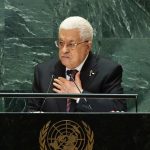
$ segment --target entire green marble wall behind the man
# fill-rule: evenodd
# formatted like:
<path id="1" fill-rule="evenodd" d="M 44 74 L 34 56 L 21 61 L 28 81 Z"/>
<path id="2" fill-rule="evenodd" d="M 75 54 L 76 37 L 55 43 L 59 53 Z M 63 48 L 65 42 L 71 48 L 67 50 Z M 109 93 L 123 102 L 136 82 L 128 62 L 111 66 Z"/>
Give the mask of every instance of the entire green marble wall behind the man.
<path id="1" fill-rule="evenodd" d="M 57 56 L 60 22 L 72 15 L 94 27 L 93 51 L 119 62 L 125 93 L 138 93 L 138 110 L 150 111 L 149 0 L 1 0 L 0 90 L 31 91 L 33 68 Z M 0 111 L 23 111 L 25 100 L 1 100 Z M 129 111 L 135 111 L 128 100 Z"/>

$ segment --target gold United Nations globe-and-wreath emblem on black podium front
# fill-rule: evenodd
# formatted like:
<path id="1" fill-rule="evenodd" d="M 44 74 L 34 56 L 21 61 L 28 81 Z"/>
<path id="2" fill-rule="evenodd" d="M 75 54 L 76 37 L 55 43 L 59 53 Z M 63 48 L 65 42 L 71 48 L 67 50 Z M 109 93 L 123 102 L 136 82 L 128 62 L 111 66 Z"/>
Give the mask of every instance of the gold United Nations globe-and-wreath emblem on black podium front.
<path id="1" fill-rule="evenodd" d="M 84 121 L 49 121 L 40 130 L 39 144 L 40 150 L 92 150 L 94 133 Z"/>

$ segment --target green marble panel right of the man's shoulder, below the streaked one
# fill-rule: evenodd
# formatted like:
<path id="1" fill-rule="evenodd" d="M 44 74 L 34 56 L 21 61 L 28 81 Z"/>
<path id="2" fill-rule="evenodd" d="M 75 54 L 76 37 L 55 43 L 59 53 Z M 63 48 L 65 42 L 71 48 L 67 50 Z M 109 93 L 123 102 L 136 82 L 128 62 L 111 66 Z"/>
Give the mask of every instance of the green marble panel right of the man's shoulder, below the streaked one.
<path id="1" fill-rule="evenodd" d="M 150 39 L 103 39 L 101 54 L 123 66 L 125 93 L 138 93 L 138 111 L 149 112 Z M 130 111 L 132 107 L 134 102 L 129 104 Z"/>

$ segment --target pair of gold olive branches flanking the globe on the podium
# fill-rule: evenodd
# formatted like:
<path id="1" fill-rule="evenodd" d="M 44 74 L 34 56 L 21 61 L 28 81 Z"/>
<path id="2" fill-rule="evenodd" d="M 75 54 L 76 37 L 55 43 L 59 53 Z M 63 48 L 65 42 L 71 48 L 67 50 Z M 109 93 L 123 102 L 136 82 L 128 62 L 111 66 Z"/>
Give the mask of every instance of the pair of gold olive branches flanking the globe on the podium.
<path id="1" fill-rule="evenodd" d="M 48 133 L 50 123 L 51 123 L 51 121 L 47 122 L 43 126 L 43 128 L 40 130 L 40 135 L 39 135 L 40 150 L 49 150 L 49 149 L 47 149 L 47 146 L 46 146 L 46 136 Z M 84 121 L 82 121 L 82 124 L 84 126 L 85 131 L 86 131 L 86 135 L 87 135 L 87 139 L 88 139 L 85 150 L 92 150 L 93 145 L 94 145 L 94 133 Z"/>

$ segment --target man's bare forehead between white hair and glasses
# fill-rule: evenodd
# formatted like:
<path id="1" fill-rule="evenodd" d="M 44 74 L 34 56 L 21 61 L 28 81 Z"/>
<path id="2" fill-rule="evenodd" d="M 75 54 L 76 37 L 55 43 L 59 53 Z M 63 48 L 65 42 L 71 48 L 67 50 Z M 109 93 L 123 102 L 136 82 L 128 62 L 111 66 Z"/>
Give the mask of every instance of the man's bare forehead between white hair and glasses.
<path id="1" fill-rule="evenodd" d="M 81 36 L 80 36 L 80 30 L 79 29 L 60 29 L 59 30 L 59 35 L 58 35 L 59 40 L 63 41 L 80 41 Z"/>

